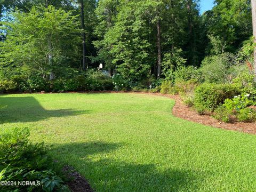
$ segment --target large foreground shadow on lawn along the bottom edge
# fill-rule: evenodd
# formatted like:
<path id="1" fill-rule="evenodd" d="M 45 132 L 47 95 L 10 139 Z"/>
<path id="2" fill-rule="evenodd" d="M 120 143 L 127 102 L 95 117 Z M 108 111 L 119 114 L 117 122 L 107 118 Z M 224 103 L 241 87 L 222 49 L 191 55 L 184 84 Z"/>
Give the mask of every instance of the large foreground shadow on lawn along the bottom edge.
<path id="1" fill-rule="evenodd" d="M 155 192 L 195 191 L 197 189 L 196 178 L 200 174 L 194 171 L 168 169 L 153 163 L 119 161 L 118 155 L 124 157 L 125 151 L 116 153 L 114 159 L 108 157 L 109 153 L 120 147 L 122 144 L 119 143 L 70 143 L 56 145 L 53 151 L 60 161 L 74 166 L 88 179 L 96 191 Z M 147 157 L 145 157 L 145 162 L 147 162 L 146 159 Z"/>

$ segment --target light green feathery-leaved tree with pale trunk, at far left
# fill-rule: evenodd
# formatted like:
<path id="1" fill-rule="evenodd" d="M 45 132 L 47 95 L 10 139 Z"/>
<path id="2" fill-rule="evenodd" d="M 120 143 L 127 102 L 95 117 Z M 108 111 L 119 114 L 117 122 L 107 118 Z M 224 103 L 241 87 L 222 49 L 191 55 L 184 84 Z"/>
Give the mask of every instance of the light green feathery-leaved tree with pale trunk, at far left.
<path id="1" fill-rule="evenodd" d="M 77 57 L 81 30 L 77 16 L 71 12 L 50 5 L 33 7 L 28 13 L 16 10 L 12 18 L 13 21 L 4 22 L 7 36 L 0 43 L 2 65 L 34 69 L 48 78 L 51 73 L 60 73 L 61 68 Z"/>

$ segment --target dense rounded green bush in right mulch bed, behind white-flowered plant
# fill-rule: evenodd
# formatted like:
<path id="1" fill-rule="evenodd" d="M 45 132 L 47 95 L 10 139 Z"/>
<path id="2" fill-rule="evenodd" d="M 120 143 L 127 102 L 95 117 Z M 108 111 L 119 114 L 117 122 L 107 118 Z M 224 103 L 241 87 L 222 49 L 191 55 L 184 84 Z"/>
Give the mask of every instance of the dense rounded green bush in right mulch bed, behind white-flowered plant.
<path id="1" fill-rule="evenodd" d="M 234 98 L 241 91 L 233 84 L 204 83 L 195 89 L 195 108 L 214 111 L 226 99 Z"/>

